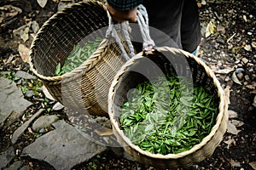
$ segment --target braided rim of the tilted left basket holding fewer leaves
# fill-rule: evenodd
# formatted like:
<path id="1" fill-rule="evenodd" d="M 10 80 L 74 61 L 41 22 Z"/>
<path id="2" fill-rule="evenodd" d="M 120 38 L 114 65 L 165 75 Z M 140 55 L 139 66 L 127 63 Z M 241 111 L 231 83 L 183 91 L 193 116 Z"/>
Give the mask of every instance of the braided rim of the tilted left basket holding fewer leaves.
<path id="1" fill-rule="evenodd" d="M 96 4 L 96 5 L 100 5 L 102 6 L 102 8 L 106 11 L 107 13 L 107 7 L 103 2 L 99 2 L 96 0 L 84 0 L 82 2 L 79 3 L 73 3 L 63 9 L 61 9 L 61 11 L 56 12 L 54 15 L 52 15 L 48 20 L 46 20 L 43 24 L 43 26 L 41 26 L 41 28 L 39 29 L 38 33 L 36 34 L 36 36 L 34 37 L 30 50 L 29 50 L 29 58 L 28 58 L 28 64 L 30 65 L 30 69 L 31 71 L 39 78 L 43 79 L 44 81 L 48 81 L 48 82 L 56 82 L 56 81 L 63 81 L 63 79 L 65 78 L 65 80 L 67 80 L 68 78 L 76 78 L 76 77 L 80 77 L 82 76 L 84 71 L 90 71 L 90 69 L 92 69 L 96 63 L 102 59 L 102 54 L 106 53 L 106 48 L 108 47 L 108 38 L 104 38 L 101 42 L 101 44 L 99 45 L 99 48 L 96 49 L 96 51 L 90 55 L 90 57 L 88 59 L 86 59 L 84 61 L 84 63 L 82 63 L 81 65 L 79 65 L 77 68 L 73 69 L 73 71 L 67 72 L 61 76 L 53 76 L 53 77 L 49 77 L 49 76 L 44 76 L 42 74 L 40 74 L 35 68 L 34 68 L 34 64 L 32 62 L 32 55 L 34 54 L 34 48 L 36 47 L 38 41 L 40 41 L 39 37 L 40 35 L 44 34 L 44 30 L 46 30 L 48 28 L 48 26 L 52 25 L 52 22 L 55 22 L 55 20 L 57 20 L 62 14 L 67 14 L 68 10 L 73 9 L 73 8 L 77 8 L 78 6 L 81 7 L 84 4 Z"/>

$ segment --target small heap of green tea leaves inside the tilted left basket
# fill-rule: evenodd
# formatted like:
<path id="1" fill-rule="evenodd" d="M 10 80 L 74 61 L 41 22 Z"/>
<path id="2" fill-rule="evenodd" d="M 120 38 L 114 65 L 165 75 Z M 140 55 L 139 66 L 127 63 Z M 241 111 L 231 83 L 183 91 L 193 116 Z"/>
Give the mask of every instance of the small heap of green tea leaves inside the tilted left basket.
<path id="1" fill-rule="evenodd" d="M 56 65 L 55 76 L 61 76 L 67 72 L 73 71 L 79 67 L 86 59 L 89 59 L 90 55 L 96 51 L 102 42 L 102 38 L 97 37 L 95 41 L 88 41 L 84 46 L 74 45 L 73 51 L 65 59 L 65 64 L 61 66 L 61 63 Z"/>

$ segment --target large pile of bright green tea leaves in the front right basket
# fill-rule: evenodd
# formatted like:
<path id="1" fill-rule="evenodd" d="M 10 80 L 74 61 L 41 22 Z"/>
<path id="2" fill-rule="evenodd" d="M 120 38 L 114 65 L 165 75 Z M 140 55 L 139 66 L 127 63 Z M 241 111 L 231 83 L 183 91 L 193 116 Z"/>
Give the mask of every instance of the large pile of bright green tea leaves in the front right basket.
<path id="1" fill-rule="evenodd" d="M 184 81 L 184 77 L 158 77 L 132 90 L 120 109 L 119 122 L 133 144 L 154 154 L 177 154 L 210 133 L 218 102 L 206 88 L 195 84 L 188 88 Z"/>

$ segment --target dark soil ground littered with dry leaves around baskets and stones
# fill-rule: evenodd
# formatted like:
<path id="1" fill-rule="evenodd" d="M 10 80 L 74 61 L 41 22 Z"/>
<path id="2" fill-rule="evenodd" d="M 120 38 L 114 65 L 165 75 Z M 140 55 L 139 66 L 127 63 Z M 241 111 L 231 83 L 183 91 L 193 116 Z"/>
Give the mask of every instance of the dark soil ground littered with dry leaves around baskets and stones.
<path id="1" fill-rule="evenodd" d="M 52 14 L 57 12 L 58 7 L 61 7 L 60 3 L 58 0 L 48 0 L 45 7 L 41 8 L 35 0 L 6 0 L 0 2 L 0 7 L 13 5 L 22 10 L 20 14 L 4 16 L 4 19 L 0 22 L 0 71 L 2 73 L 3 71 L 11 71 L 10 77 L 19 70 L 28 71 L 32 74 L 29 71 L 29 65 L 21 59 L 18 50 L 19 44 L 30 47 L 34 35 L 32 27 L 30 27 L 30 36 L 26 42 L 20 38 L 22 34 L 15 35 L 14 30 L 20 26 L 31 24 L 34 20 L 38 22 L 39 26 L 42 26 Z M 68 2 L 65 1 L 65 3 Z M 229 110 L 237 113 L 237 116 L 230 118 L 230 120 L 238 120 L 243 122 L 243 125 L 241 127 L 237 126 L 239 131 L 237 134 L 225 133 L 223 142 L 218 145 L 211 157 L 197 165 L 188 167 L 188 169 L 253 169 L 252 162 L 256 161 L 255 4 L 253 0 L 207 0 L 198 3 L 203 35 L 198 56 L 215 71 L 223 88 L 228 89 L 227 87 L 230 87 L 230 90 L 227 90 L 230 92 Z M 3 14 L 2 12 L 3 8 L 1 8 L 1 14 Z M 11 55 L 15 57 L 7 63 L 6 61 Z M 224 72 L 219 73 L 220 71 Z M 238 79 L 234 76 L 234 72 Z M 1 74 L 1 77 L 3 75 Z M 14 81 L 17 82 L 17 80 Z M 32 82 L 22 82 L 20 86 L 26 87 L 30 83 Z M 44 93 L 39 93 L 37 98 L 26 96 L 26 99 L 33 103 L 25 111 L 26 114 L 9 127 L 1 128 L 0 153 L 11 145 L 10 139 L 15 129 L 31 117 L 38 108 L 49 109 L 55 104 L 46 99 Z M 49 115 L 59 115 L 61 119 L 66 121 L 68 119 L 65 116 L 65 111 L 49 111 Z M 51 130 L 51 127 L 48 130 Z M 10 164 L 20 160 L 22 165 L 29 165 L 32 169 L 54 169 L 47 162 L 20 156 L 22 148 L 31 144 L 38 137 L 37 135 L 39 134 L 27 130 L 20 137 L 14 144 L 16 155 Z M 113 150 L 106 150 L 90 161 L 73 167 L 73 169 L 96 168 L 153 169 L 153 167 L 143 166 L 143 164 L 136 161 L 129 161 L 122 156 L 116 156 Z"/>

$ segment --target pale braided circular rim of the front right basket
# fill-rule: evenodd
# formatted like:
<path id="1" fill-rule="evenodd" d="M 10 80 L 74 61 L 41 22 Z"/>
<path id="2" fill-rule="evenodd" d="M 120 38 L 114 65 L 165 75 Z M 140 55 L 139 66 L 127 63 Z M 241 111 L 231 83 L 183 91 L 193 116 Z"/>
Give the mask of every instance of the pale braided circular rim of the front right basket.
<path id="1" fill-rule="evenodd" d="M 218 88 L 218 98 L 220 99 L 219 105 L 218 105 L 218 116 L 216 117 L 216 123 L 212 127 L 211 132 L 201 140 L 201 143 L 195 144 L 190 150 L 186 150 L 177 154 L 167 154 L 167 155 L 162 155 L 162 154 L 153 154 L 149 151 L 142 150 L 139 146 L 132 144 L 131 140 L 128 139 L 125 136 L 125 133 L 119 129 L 118 122 L 114 119 L 113 115 L 113 92 L 114 88 L 117 86 L 119 77 L 121 77 L 124 73 L 127 67 L 130 65 L 133 65 L 138 59 L 143 58 L 143 52 L 137 54 L 133 58 L 129 59 L 125 65 L 123 65 L 120 70 L 117 72 L 116 76 L 113 78 L 113 82 L 111 84 L 111 87 L 109 88 L 109 93 L 108 93 L 108 116 L 110 118 L 110 121 L 113 126 L 113 131 L 116 131 L 116 133 L 119 134 L 120 137 L 125 141 L 128 146 L 130 146 L 133 150 L 136 150 L 138 153 L 144 155 L 144 156 L 149 156 L 155 159 L 178 159 L 182 158 L 184 156 L 189 156 L 193 154 L 195 151 L 200 150 L 205 146 L 207 143 L 211 141 L 215 133 L 218 132 L 218 127 L 220 127 L 221 122 L 227 122 L 228 121 L 228 114 L 227 114 L 227 109 L 228 106 L 226 105 L 225 102 L 225 97 L 224 97 L 224 90 L 221 87 L 220 83 L 218 82 L 217 77 L 215 77 L 213 71 L 199 59 L 196 57 L 194 54 L 190 54 L 189 52 L 184 51 L 183 49 L 178 49 L 178 48 L 170 48 L 170 47 L 160 47 L 157 48 L 158 51 L 171 51 L 173 54 L 184 54 L 186 57 L 193 58 L 197 62 L 197 64 L 202 65 L 207 72 L 207 76 L 211 77 L 214 83 L 214 86 Z"/>

